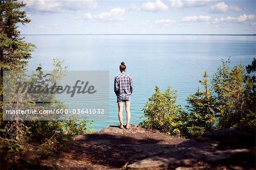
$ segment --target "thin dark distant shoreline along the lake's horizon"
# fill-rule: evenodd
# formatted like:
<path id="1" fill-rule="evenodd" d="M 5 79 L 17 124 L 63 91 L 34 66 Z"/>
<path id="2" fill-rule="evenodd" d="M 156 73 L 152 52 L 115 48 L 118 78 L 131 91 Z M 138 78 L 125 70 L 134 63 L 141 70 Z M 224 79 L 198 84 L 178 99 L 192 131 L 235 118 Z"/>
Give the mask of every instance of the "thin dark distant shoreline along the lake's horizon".
<path id="1" fill-rule="evenodd" d="M 30 35 L 210 35 L 210 36 L 256 36 L 256 34 L 21 34 Z"/>

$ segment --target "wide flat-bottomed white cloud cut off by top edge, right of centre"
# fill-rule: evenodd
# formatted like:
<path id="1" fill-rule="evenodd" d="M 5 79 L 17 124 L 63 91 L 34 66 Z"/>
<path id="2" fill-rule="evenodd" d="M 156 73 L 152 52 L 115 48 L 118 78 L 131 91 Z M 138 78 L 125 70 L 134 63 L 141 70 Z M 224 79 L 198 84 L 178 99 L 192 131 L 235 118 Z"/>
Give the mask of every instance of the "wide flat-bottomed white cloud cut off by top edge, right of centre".
<path id="1" fill-rule="evenodd" d="M 187 7 L 199 7 L 206 6 L 212 3 L 214 0 L 196 1 L 196 0 L 170 0 L 170 6 L 172 8 L 187 8 Z"/>

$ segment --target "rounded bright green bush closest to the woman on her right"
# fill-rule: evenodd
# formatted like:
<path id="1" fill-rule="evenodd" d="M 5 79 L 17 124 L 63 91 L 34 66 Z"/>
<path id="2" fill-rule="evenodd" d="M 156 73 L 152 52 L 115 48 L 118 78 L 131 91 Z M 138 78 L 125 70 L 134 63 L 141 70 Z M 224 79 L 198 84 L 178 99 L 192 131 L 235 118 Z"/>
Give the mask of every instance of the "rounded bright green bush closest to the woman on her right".
<path id="1" fill-rule="evenodd" d="M 182 110 L 176 104 L 176 100 L 176 90 L 171 90 L 168 86 L 164 92 L 160 92 L 160 89 L 156 86 L 155 93 L 142 109 L 144 112 L 143 118 L 147 119 L 141 123 L 141 126 L 157 129 L 171 135 L 179 135 L 183 125 L 180 120 Z"/>

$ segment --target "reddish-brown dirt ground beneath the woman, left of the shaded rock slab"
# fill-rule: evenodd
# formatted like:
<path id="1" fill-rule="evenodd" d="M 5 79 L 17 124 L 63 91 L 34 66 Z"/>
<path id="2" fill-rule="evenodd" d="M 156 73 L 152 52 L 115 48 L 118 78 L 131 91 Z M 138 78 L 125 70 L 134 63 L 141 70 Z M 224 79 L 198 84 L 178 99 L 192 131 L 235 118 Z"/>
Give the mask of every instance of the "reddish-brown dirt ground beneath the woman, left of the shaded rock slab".
<path id="1" fill-rule="evenodd" d="M 161 154 L 187 139 L 131 125 L 129 130 L 108 126 L 89 135 L 73 136 L 41 165 L 50 169 L 122 169 L 148 156 Z"/>

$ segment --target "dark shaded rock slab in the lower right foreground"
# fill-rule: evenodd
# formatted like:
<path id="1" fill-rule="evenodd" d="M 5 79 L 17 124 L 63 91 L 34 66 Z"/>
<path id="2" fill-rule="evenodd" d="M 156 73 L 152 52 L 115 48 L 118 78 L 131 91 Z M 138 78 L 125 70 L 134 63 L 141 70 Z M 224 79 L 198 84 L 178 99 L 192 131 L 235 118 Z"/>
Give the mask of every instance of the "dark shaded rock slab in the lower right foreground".
<path id="1" fill-rule="evenodd" d="M 236 148 L 238 147 L 238 148 Z M 230 149 L 233 148 L 233 149 Z M 255 138 L 250 134 L 233 129 L 224 129 L 218 131 L 207 132 L 205 135 L 187 140 L 177 144 L 174 148 L 155 156 L 137 161 L 128 165 L 130 169 L 145 169 L 148 165 L 152 167 L 175 167 L 176 165 L 186 165 L 188 167 L 179 167 L 177 169 L 208 169 L 220 168 L 215 167 L 216 164 L 230 164 L 230 161 L 239 159 L 238 161 L 246 161 L 245 157 L 249 157 L 252 162 L 249 166 L 244 165 L 245 169 L 255 169 Z M 203 161 L 205 166 L 194 166 Z M 236 162 L 234 162 L 236 164 Z M 232 166 L 232 165 L 231 165 Z M 231 167 L 230 166 L 230 167 Z M 251 167 L 250 167 L 251 166 Z M 240 168 L 234 165 L 232 168 Z M 222 167 L 226 169 L 226 167 Z"/>

